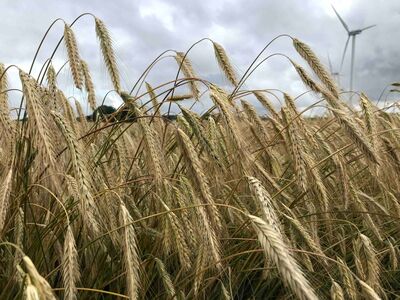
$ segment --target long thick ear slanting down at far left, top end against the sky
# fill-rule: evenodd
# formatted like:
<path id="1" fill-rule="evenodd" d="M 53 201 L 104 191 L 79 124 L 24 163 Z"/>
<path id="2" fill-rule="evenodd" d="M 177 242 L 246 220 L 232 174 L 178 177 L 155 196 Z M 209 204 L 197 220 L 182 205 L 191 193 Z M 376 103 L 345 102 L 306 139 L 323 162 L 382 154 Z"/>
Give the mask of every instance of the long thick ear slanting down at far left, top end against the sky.
<path id="1" fill-rule="evenodd" d="M 51 130 L 49 125 L 49 118 L 45 107 L 40 103 L 37 92 L 37 84 L 33 78 L 28 74 L 19 71 L 21 78 L 22 89 L 26 97 L 27 111 L 29 115 L 30 129 L 38 133 L 38 146 L 42 151 L 43 157 L 50 162 L 51 166 L 55 165 L 55 153 L 53 141 L 50 136 Z"/>

